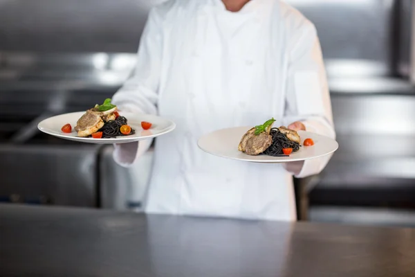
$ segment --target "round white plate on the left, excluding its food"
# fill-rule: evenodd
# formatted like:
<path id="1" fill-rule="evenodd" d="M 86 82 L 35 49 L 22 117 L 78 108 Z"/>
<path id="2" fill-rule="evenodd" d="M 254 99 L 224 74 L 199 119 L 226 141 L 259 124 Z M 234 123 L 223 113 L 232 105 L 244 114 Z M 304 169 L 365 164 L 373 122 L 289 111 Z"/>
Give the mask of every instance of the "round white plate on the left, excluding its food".
<path id="1" fill-rule="evenodd" d="M 116 139 L 93 139 L 93 138 L 83 138 L 77 136 L 74 128 L 76 126 L 77 120 L 84 114 L 84 111 L 79 111 L 71 114 L 61 114 L 59 116 L 53 116 L 43 120 L 37 127 L 39 130 L 46 134 L 52 136 L 57 136 L 61 139 L 68 139 L 70 141 L 80 141 L 82 143 L 97 143 L 97 144 L 106 144 L 106 143 L 131 143 L 133 141 L 142 141 L 145 139 L 152 139 L 156 136 L 161 136 L 172 132 L 176 128 L 176 124 L 171 120 L 165 118 L 160 118 L 159 116 L 151 116 L 147 114 L 128 114 L 120 113 L 122 116 L 125 116 L 128 120 L 128 124 L 131 128 L 136 130 L 136 134 L 131 134 L 130 136 L 117 136 Z M 152 123 L 152 126 L 148 130 L 144 130 L 141 127 L 141 121 L 147 121 Z M 65 124 L 71 124 L 72 132 L 70 134 L 65 134 L 61 131 L 62 126 Z"/>

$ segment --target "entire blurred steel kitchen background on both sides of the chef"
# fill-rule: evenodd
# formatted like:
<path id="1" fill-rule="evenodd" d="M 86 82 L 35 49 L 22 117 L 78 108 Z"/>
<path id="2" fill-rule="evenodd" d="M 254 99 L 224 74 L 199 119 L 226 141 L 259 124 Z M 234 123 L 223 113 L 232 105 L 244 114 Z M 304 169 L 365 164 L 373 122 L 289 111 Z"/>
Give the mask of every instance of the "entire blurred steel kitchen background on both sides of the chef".
<path id="1" fill-rule="evenodd" d="M 1 202 L 140 211 L 151 151 L 120 168 L 112 146 L 37 123 L 111 97 L 158 2 L 0 0 Z M 287 2 L 317 27 L 340 143 L 321 175 L 296 180 L 299 218 L 415 226 L 414 1 Z"/>

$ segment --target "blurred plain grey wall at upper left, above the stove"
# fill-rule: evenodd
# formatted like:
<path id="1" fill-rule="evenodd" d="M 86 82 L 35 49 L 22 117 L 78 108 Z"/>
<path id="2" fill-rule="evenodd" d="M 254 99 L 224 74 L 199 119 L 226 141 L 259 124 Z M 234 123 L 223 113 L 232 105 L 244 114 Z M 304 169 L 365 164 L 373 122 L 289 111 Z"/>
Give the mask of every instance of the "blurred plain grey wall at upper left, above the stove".
<path id="1" fill-rule="evenodd" d="M 3 51 L 134 53 L 154 0 L 1 0 Z"/>

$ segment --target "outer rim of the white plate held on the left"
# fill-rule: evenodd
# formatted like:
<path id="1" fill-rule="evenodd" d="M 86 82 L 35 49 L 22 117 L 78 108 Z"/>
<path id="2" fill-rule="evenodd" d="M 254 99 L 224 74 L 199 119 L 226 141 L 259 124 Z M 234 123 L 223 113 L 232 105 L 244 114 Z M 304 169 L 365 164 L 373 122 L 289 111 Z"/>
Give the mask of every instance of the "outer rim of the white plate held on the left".
<path id="1" fill-rule="evenodd" d="M 154 139 L 157 136 L 162 136 L 164 134 L 168 134 L 169 132 L 174 131 L 174 129 L 176 129 L 176 123 L 174 123 L 173 120 L 169 120 L 163 116 L 158 116 L 155 114 L 144 114 L 144 113 L 131 113 L 131 112 L 125 112 L 123 114 L 128 115 L 142 115 L 142 116 L 149 116 L 149 117 L 157 117 L 159 119 L 165 120 L 167 122 L 169 122 L 169 127 L 166 127 L 165 129 L 162 129 L 162 131 L 158 134 L 151 134 L 149 136 L 133 136 L 133 137 L 125 137 L 125 138 L 121 138 L 121 139 L 93 139 L 93 138 L 89 138 L 89 137 L 81 137 L 81 136 L 67 136 L 65 134 L 59 134 L 59 133 L 53 133 L 56 131 L 52 131 L 50 132 L 49 128 L 45 128 L 42 127 L 42 123 L 44 123 L 46 120 L 50 120 L 51 118 L 55 118 L 58 116 L 70 116 L 70 115 L 75 115 L 75 114 L 84 114 L 86 111 L 73 111 L 73 112 L 69 112 L 66 114 L 57 114 L 55 116 L 50 116 L 48 118 L 44 118 L 42 121 L 40 121 L 39 123 L 37 123 L 37 129 L 39 129 L 39 131 L 48 134 L 50 136 L 55 136 L 59 139 L 66 139 L 68 141 L 77 141 L 77 142 L 82 142 L 82 143 L 93 143 L 93 144 L 113 144 L 113 143 L 132 143 L 132 142 L 136 142 L 136 141 L 145 141 L 147 139 Z M 115 141 L 116 140 L 116 141 Z"/>

